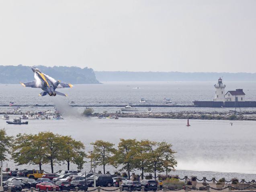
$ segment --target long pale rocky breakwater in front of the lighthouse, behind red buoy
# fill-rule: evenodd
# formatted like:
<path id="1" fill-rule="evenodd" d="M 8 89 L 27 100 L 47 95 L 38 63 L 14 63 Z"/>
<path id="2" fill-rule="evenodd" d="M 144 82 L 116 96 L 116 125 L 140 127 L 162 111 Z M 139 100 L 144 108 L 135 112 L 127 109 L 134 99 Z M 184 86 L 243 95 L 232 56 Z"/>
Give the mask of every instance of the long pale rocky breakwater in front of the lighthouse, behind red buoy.
<path id="1" fill-rule="evenodd" d="M 256 114 L 214 114 L 201 112 L 168 113 L 106 113 L 95 116 L 119 116 L 126 118 L 170 118 L 170 119 L 205 119 L 205 120 L 256 120 Z"/>

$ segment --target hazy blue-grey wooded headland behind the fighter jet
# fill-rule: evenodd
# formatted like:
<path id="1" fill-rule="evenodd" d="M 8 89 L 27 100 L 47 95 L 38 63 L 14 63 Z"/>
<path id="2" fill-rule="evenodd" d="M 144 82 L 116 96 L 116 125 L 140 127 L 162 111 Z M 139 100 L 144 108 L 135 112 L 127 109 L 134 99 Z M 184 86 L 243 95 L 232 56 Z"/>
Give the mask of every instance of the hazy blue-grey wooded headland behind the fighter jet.
<path id="1" fill-rule="evenodd" d="M 55 80 L 71 84 L 98 84 L 94 71 L 91 68 L 66 67 L 66 66 L 35 66 L 44 74 Z M 33 81 L 34 75 L 29 66 L 0 66 L 0 83 L 18 84 L 19 82 Z"/>

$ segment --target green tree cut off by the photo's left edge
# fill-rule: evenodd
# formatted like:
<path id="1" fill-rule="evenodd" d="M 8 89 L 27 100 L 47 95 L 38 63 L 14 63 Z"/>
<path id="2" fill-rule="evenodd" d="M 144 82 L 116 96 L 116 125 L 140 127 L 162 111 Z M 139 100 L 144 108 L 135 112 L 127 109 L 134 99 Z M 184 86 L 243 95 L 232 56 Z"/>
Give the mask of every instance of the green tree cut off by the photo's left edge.
<path id="1" fill-rule="evenodd" d="M 6 154 L 12 147 L 12 136 L 7 136 L 5 129 L 0 129 L 0 161 L 7 160 Z"/>

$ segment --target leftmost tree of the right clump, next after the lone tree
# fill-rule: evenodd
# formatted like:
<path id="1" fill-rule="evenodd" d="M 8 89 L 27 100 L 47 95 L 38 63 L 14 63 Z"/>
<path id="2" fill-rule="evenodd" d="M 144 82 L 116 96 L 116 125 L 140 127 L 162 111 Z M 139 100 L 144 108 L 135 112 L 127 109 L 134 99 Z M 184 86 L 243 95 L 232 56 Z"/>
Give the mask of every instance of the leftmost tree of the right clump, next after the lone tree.
<path id="1" fill-rule="evenodd" d="M 128 172 L 128 177 L 130 179 L 130 172 L 134 168 L 135 160 L 135 139 L 120 139 L 118 144 L 118 150 L 115 152 L 115 155 L 112 158 L 112 164 L 114 166 L 118 166 L 123 164 L 123 167 L 120 171 L 126 170 Z"/>

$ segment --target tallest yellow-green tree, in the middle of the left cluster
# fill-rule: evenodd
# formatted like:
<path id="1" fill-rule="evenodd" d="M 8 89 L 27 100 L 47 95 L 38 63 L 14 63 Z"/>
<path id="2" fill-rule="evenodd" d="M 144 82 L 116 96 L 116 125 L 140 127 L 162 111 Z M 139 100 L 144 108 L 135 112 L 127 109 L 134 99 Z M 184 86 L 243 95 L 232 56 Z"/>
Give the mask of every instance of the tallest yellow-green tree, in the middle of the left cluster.
<path id="1" fill-rule="evenodd" d="M 63 160 L 61 151 L 66 144 L 59 134 L 53 134 L 52 132 L 39 132 L 38 140 L 42 142 L 41 153 L 50 162 L 51 172 L 53 173 L 53 164 Z"/>

